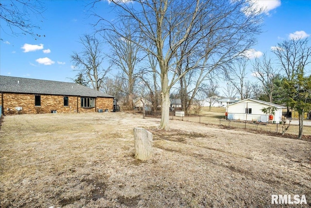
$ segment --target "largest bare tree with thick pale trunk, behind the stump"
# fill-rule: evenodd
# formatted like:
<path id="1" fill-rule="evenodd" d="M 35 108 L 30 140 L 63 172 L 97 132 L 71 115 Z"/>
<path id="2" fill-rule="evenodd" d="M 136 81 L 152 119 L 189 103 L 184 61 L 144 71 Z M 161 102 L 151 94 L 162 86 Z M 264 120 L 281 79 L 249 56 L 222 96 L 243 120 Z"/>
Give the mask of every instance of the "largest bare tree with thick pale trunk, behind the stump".
<path id="1" fill-rule="evenodd" d="M 243 0 L 111 2 L 120 9 L 119 20 L 131 19 L 132 30 L 142 40 L 134 40 L 135 43 L 158 61 L 161 82 L 159 129 L 169 129 L 170 90 L 181 77 L 201 68 L 205 60 L 210 62 L 209 68 L 215 68 L 215 62 L 220 59 L 222 62 L 231 60 L 253 45 L 255 35 L 260 32 L 261 11 L 250 11 L 250 2 Z M 104 29 L 107 29 L 106 25 Z M 111 24 L 108 29 L 122 35 L 124 28 Z M 133 41 L 124 35 L 123 38 Z M 155 50 L 151 50 L 153 48 Z M 187 57 L 193 58 L 191 64 L 178 74 L 180 63 Z"/>

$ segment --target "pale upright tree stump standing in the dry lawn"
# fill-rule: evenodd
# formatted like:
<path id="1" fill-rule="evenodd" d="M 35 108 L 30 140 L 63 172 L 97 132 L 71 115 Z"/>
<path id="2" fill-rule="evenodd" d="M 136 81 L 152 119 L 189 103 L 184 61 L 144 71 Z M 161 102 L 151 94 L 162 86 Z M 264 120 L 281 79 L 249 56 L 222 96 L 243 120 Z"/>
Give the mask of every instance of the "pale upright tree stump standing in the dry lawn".
<path id="1" fill-rule="evenodd" d="M 135 158 L 148 160 L 152 157 L 152 133 L 143 128 L 134 128 Z"/>

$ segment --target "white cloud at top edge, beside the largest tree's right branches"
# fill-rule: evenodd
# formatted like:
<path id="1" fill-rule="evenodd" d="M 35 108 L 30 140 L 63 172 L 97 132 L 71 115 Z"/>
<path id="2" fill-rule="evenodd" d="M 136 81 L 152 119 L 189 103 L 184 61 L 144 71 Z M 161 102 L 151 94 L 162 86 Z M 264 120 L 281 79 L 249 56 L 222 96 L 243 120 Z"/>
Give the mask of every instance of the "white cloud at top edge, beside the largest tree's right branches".
<path id="1" fill-rule="evenodd" d="M 246 16 L 253 12 L 265 13 L 270 15 L 270 11 L 281 5 L 281 0 L 250 0 L 249 5 L 242 8 Z"/>

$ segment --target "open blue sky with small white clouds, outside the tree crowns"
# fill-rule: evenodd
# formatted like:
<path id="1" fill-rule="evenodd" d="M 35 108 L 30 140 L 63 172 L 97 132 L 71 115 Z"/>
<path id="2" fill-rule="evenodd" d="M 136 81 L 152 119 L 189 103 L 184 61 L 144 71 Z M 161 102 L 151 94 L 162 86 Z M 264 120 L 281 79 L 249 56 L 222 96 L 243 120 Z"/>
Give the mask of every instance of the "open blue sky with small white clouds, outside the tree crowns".
<path id="1" fill-rule="evenodd" d="M 70 55 L 73 51 L 80 52 L 79 37 L 93 32 L 90 24 L 95 19 L 86 12 L 89 2 L 45 0 L 46 11 L 42 18 L 38 17 L 43 21 L 39 23 L 41 30 L 36 31 L 44 38 L 16 37 L 0 31 L 0 75 L 70 82 L 77 74 L 72 70 Z M 311 35 L 311 0 L 259 0 L 257 5 L 267 8 L 264 33 L 249 51 L 250 58 L 270 54 L 271 47 L 285 39 Z M 113 19 L 108 1 L 103 0 L 97 6 L 101 16 Z M 3 20 L 0 24 L 7 29 Z"/>

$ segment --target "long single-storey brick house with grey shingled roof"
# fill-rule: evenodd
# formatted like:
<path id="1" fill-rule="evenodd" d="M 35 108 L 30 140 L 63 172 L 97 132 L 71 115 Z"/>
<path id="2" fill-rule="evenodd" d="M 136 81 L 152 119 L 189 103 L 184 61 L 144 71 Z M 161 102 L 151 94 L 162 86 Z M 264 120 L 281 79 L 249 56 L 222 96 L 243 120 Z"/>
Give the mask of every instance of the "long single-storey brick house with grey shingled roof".
<path id="1" fill-rule="evenodd" d="M 77 83 L 0 76 L 2 113 L 112 111 L 114 97 Z"/>

